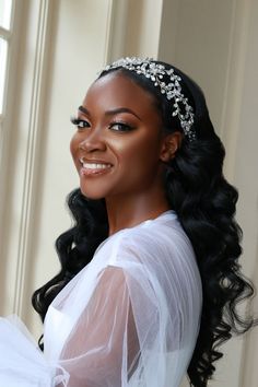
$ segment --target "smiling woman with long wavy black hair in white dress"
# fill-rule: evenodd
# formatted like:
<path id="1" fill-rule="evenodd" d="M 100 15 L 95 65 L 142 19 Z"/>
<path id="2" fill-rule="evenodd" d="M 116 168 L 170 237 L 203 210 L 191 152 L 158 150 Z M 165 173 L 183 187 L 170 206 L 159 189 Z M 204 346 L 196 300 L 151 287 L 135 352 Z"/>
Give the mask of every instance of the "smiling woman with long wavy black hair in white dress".
<path id="1" fill-rule="evenodd" d="M 169 64 L 125 58 L 72 124 L 75 224 L 57 239 L 60 272 L 33 296 L 51 383 L 178 387 L 187 372 L 207 386 L 218 345 L 256 321 L 236 312 L 254 290 L 202 92 Z"/>

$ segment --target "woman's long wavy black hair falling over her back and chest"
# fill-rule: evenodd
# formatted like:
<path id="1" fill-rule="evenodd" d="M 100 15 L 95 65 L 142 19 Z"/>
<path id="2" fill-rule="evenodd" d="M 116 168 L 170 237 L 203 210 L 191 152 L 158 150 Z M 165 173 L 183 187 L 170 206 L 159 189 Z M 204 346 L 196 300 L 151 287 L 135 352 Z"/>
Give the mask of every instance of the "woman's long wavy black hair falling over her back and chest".
<path id="1" fill-rule="evenodd" d="M 201 325 L 188 376 L 192 386 L 206 387 L 215 371 L 214 362 L 223 355 L 219 345 L 233 333 L 244 333 L 257 324 L 251 316 L 241 317 L 237 312 L 237 304 L 251 297 L 254 288 L 242 273 L 238 261 L 242 231 L 234 218 L 238 194 L 223 176 L 225 151 L 210 120 L 203 93 L 178 69 L 156 63 L 173 68 L 180 77 L 183 93 L 195 110 L 196 139 L 189 141 L 183 137 L 167 167 L 165 186 L 171 209 L 176 211 L 191 241 L 201 274 Z M 124 68 L 104 71 L 99 77 L 110 71 L 129 77 L 153 95 L 165 132 L 183 132 L 178 117 L 172 116 L 171 102 L 152 81 Z M 89 200 L 75 189 L 68 197 L 68 206 L 74 225 L 56 242 L 61 270 L 33 294 L 33 306 L 43 320 L 55 296 L 91 261 L 95 249 L 108 235 L 105 200 Z"/>

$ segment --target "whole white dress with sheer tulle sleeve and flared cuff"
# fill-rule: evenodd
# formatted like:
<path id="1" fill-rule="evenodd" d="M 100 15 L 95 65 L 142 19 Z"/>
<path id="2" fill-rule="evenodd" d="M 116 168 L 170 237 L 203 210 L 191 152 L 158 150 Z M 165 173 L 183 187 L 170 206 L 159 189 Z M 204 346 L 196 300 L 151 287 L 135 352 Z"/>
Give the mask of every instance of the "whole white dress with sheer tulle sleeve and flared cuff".
<path id="1" fill-rule="evenodd" d="M 0 319 L 0 387 L 178 387 L 201 306 L 191 244 L 164 212 L 105 239 L 58 294 L 44 355 L 21 324 Z"/>

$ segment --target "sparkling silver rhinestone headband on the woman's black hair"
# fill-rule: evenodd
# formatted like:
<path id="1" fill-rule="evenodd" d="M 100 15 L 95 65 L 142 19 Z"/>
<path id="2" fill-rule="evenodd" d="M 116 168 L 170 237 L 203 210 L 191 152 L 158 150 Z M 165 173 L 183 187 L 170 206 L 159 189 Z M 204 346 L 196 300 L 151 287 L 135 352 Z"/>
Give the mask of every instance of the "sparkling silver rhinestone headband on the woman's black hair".
<path id="1" fill-rule="evenodd" d="M 150 79 L 156 87 L 160 87 L 162 94 L 165 94 L 168 101 L 172 101 L 172 116 L 178 117 L 185 136 L 192 141 L 196 139 L 196 132 L 192 128 L 194 108 L 188 103 L 188 98 L 183 94 L 180 86 L 180 77 L 175 74 L 174 69 L 166 69 L 164 64 L 155 63 L 151 58 L 121 58 L 104 68 L 104 71 L 124 68 L 134 71 Z M 169 77 L 169 82 L 164 82 L 164 75 Z"/>

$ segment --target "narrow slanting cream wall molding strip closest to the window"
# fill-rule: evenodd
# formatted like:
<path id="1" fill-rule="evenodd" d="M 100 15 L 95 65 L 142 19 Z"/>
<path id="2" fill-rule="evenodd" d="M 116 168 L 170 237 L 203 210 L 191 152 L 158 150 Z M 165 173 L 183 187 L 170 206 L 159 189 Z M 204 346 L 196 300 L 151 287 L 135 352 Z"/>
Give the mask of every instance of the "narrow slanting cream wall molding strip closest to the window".
<path id="1" fill-rule="evenodd" d="M 32 3 L 30 2 L 30 5 Z M 27 113 L 28 128 L 26 137 L 26 152 L 24 165 L 24 181 L 21 204 L 21 216 L 19 224 L 19 241 L 15 271 L 15 288 L 13 298 L 13 312 L 23 316 L 24 293 L 26 269 L 30 262 L 30 250 L 33 243 L 33 220 L 34 203 L 36 194 L 36 176 L 37 176 L 37 151 L 38 138 L 40 132 L 40 118 L 44 92 L 44 73 L 46 67 L 46 45 L 48 34 L 48 22 L 50 14 L 50 0 L 42 0 L 34 3 L 31 9 L 31 17 L 34 17 L 35 47 L 34 48 L 34 66 L 32 73 L 31 101 Z M 36 23 L 35 23 L 36 21 Z M 26 55 L 26 54 L 25 54 Z"/>

